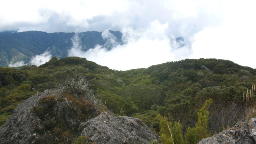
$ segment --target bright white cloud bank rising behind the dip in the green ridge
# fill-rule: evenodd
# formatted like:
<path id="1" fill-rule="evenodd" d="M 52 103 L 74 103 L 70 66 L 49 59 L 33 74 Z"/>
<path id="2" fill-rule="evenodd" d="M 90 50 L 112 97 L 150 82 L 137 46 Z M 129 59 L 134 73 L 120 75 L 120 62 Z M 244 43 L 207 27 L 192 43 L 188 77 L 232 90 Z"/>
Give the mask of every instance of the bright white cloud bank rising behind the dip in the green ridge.
<path id="1" fill-rule="evenodd" d="M 175 60 L 176 57 L 186 56 L 188 53 L 181 52 L 188 50 L 185 46 L 179 49 L 172 48 L 171 40 L 165 34 L 167 28 L 168 24 L 160 24 L 158 20 L 151 22 L 148 28 L 136 30 L 124 28 L 122 39 L 126 43 L 116 45 L 109 51 L 104 46 L 96 46 L 87 52 L 82 51 L 79 37 L 76 34 L 72 38 L 73 47 L 69 51 L 69 56 L 85 57 L 116 70 L 147 68 L 154 64 Z M 102 35 L 104 38 L 106 36 L 112 38 L 112 35 L 107 32 L 103 32 Z"/>

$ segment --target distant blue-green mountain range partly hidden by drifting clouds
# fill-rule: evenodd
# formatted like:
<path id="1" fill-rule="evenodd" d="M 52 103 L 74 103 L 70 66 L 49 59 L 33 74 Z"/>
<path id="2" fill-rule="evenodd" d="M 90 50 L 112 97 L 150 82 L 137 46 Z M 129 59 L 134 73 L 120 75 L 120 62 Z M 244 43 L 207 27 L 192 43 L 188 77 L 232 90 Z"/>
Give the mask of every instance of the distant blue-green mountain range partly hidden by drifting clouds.
<path id="1" fill-rule="evenodd" d="M 117 42 L 122 42 L 121 32 L 109 32 L 116 37 Z M 74 32 L 0 32 L 0 66 L 8 66 L 11 61 L 15 63 L 23 60 L 28 63 L 32 56 L 43 54 L 46 50 L 49 50 L 52 56 L 67 57 L 74 35 Z M 102 32 L 81 32 L 78 35 L 84 51 L 107 42 L 107 39 L 102 38 Z"/>

